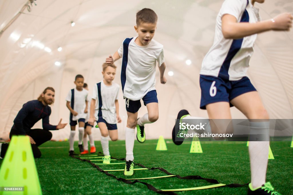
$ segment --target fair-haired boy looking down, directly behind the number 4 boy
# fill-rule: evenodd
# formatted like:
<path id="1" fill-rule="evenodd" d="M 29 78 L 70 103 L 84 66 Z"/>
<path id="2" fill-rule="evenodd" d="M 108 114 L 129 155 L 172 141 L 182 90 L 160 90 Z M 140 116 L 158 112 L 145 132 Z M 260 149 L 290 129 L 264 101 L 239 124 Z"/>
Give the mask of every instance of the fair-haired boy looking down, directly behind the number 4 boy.
<path id="1" fill-rule="evenodd" d="M 103 81 L 93 87 L 93 97 L 91 100 L 90 118 L 88 123 L 93 125 L 94 117 L 101 131 L 101 145 L 104 153 L 103 163 L 110 163 L 109 139 L 118 139 L 117 122 L 121 123 L 119 116 L 118 92 L 119 85 L 113 83 L 115 78 L 115 64 L 103 64 Z M 96 104 L 97 100 L 97 104 Z"/>

